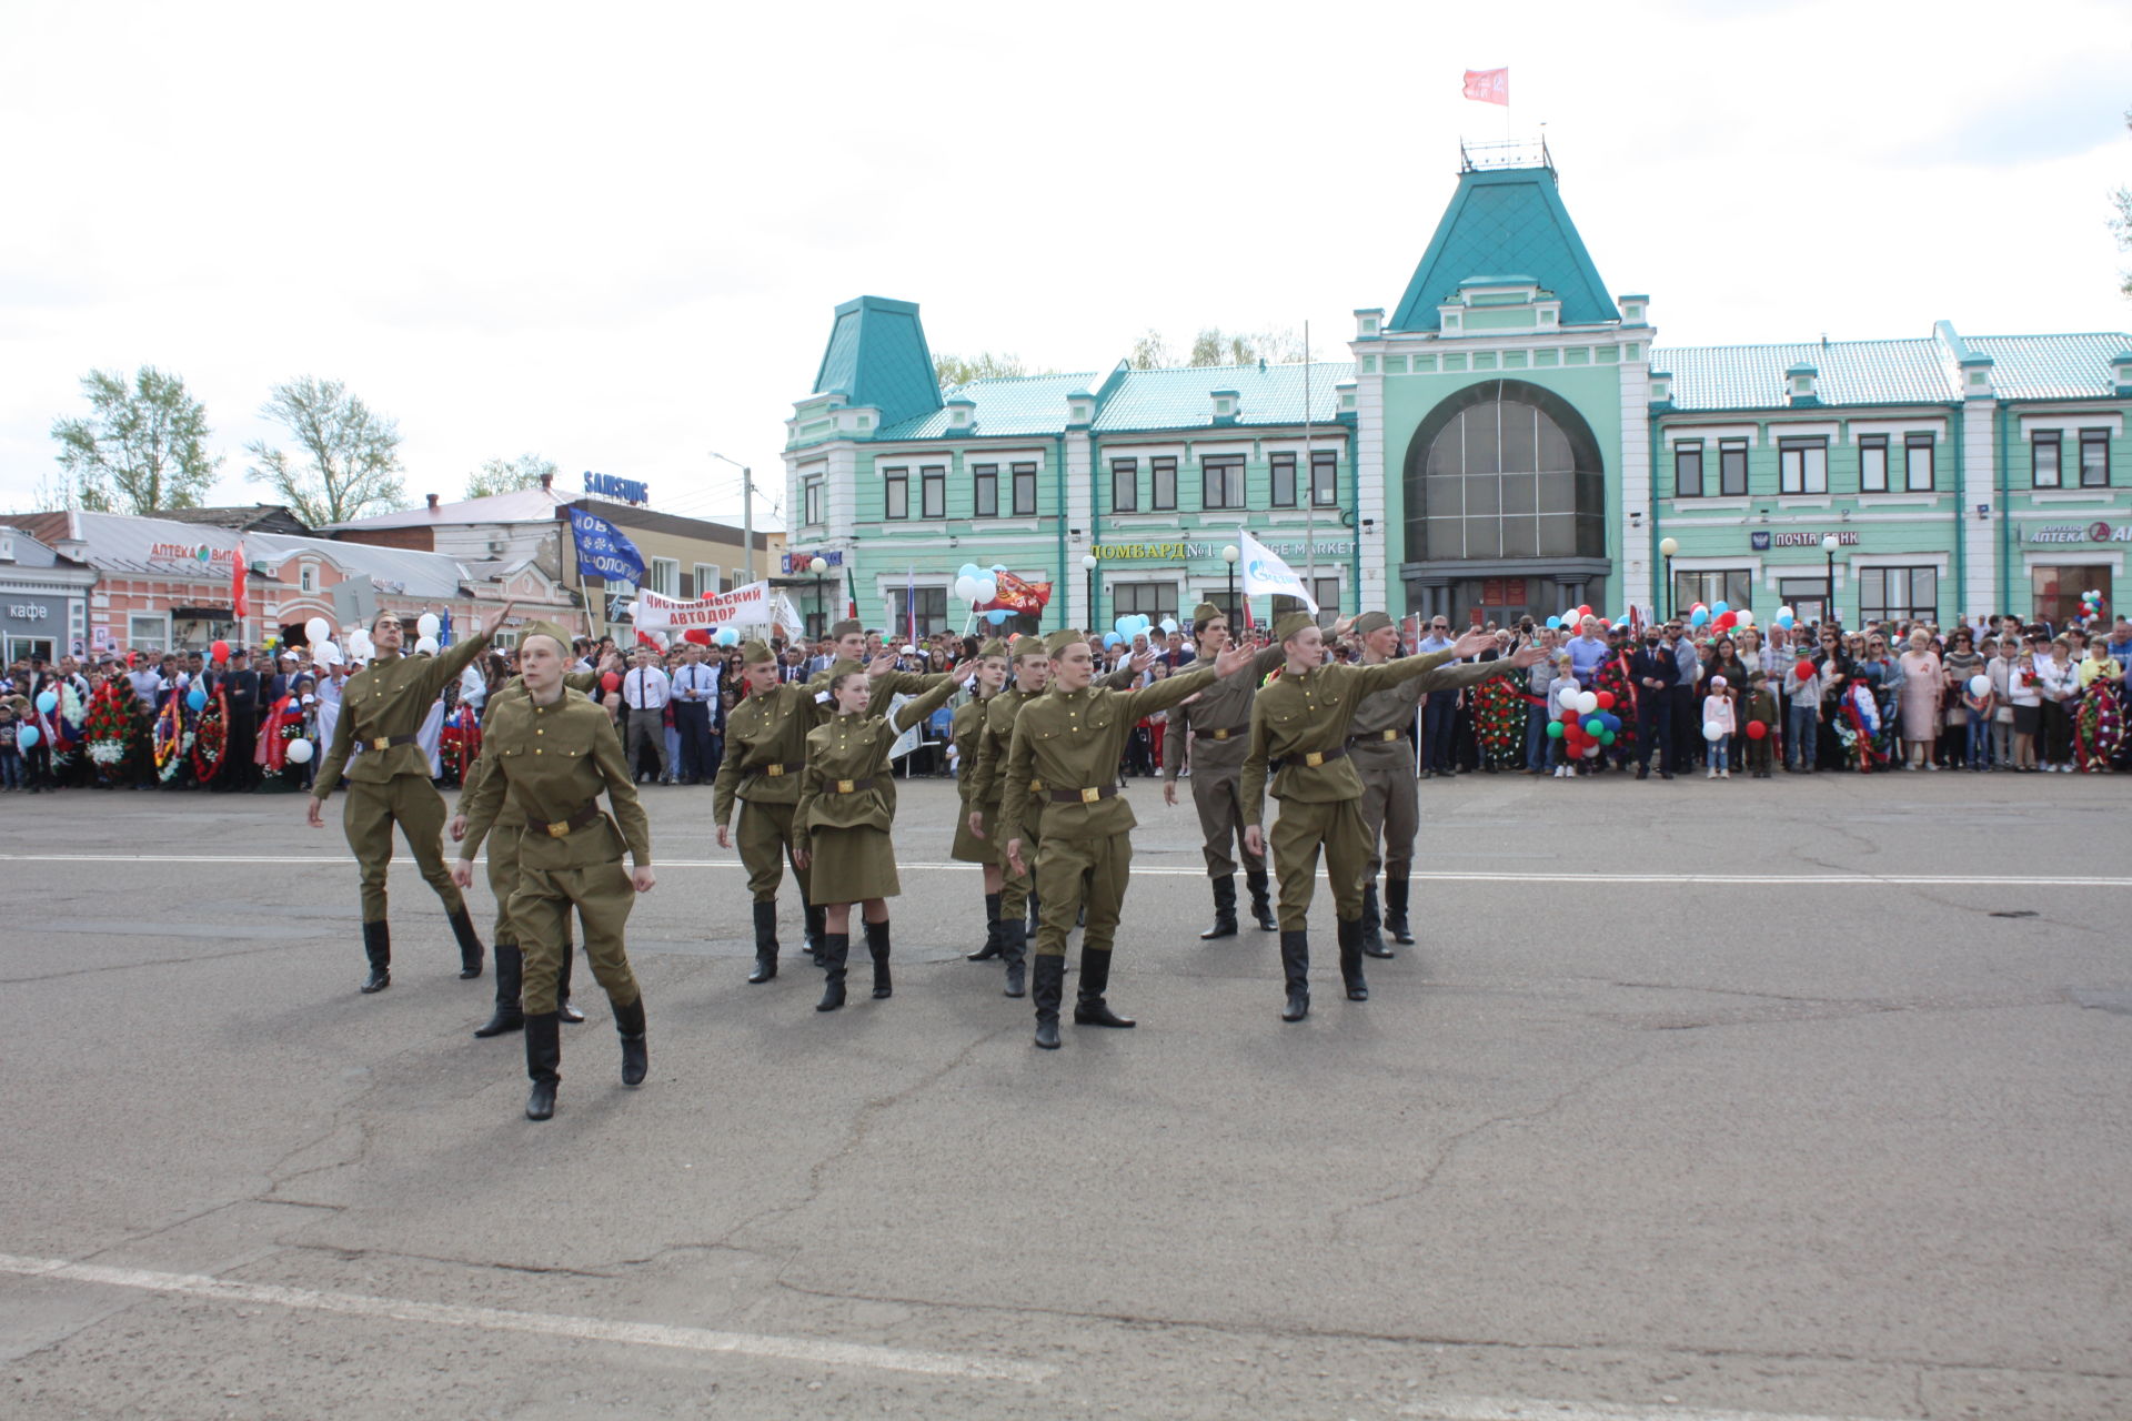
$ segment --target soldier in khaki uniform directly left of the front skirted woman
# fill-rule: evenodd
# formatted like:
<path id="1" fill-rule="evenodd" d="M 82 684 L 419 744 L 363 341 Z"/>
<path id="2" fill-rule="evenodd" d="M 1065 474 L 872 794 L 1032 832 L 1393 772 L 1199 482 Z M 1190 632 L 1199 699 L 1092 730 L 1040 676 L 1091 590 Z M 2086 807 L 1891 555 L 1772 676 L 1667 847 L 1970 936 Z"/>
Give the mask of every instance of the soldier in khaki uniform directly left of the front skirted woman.
<path id="1" fill-rule="evenodd" d="M 725 761 L 712 786 L 710 812 L 718 848 L 731 848 L 733 803 L 740 803 L 740 863 L 755 897 L 755 971 L 750 982 L 778 976 L 778 882 L 793 854 L 793 805 L 806 769 L 806 733 L 814 729 L 814 692 L 778 680 L 778 658 L 761 641 L 740 648 L 748 695 L 725 716 Z M 821 910 L 808 901 L 808 871 L 793 861 L 793 882 L 806 910 L 808 946 L 821 950 Z"/>

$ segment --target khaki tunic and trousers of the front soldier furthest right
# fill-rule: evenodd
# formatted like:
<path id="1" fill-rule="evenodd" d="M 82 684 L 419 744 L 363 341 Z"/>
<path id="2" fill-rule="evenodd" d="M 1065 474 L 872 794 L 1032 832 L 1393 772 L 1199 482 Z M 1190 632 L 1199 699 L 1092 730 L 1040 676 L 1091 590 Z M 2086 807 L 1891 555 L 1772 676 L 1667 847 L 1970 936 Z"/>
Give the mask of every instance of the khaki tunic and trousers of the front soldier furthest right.
<path id="1" fill-rule="evenodd" d="M 1281 816 L 1266 835 L 1266 846 L 1273 850 L 1273 873 L 1281 880 L 1283 933 L 1305 927 L 1320 848 L 1337 914 L 1345 922 L 1362 916 L 1369 837 L 1362 831 L 1362 775 L 1347 754 L 1347 733 L 1364 697 L 1424 675 L 1445 660 L 1450 652 L 1375 667 L 1332 663 L 1301 675 L 1283 671 L 1258 692 L 1251 705 L 1251 750 L 1243 763 L 1243 812 L 1245 822 L 1264 822 L 1271 769 Z"/>

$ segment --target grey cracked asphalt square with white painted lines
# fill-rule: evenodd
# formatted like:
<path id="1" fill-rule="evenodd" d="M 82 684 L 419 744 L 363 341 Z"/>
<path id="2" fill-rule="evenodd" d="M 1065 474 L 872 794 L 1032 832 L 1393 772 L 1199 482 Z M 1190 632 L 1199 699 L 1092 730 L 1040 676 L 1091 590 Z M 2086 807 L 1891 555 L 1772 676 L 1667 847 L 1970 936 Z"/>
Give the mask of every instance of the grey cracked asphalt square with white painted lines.
<path id="1" fill-rule="evenodd" d="M 1422 942 L 1345 1001 L 1320 882 L 1283 1025 L 1130 782 L 1141 1025 L 1038 1052 L 951 782 L 834 1014 L 648 788 L 652 1074 L 580 967 L 544 1125 L 409 863 L 356 993 L 337 807 L 0 799 L 0 1415 L 2132 1415 L 2132 784 L 1420 793 Z"/>

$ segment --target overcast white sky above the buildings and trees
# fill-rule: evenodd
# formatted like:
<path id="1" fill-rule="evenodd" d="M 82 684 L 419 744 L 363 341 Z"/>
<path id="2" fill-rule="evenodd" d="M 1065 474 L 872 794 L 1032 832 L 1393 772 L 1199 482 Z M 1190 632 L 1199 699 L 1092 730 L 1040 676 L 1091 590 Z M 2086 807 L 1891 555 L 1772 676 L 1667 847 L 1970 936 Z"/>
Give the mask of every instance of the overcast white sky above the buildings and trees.
<path id="1" fill-rule="evenodd" d="M 0 507 L 92 366 L 158 364 L 245 484 L 337 377 L 407 494 L 490 456 L 774 526 L 831 307 L 1109 369 L 1153 326 L 1396 303 L 1509 66 L 1661 345 L 2126 330 L 2132 6 L 28 4 L 0 0 Z"/>

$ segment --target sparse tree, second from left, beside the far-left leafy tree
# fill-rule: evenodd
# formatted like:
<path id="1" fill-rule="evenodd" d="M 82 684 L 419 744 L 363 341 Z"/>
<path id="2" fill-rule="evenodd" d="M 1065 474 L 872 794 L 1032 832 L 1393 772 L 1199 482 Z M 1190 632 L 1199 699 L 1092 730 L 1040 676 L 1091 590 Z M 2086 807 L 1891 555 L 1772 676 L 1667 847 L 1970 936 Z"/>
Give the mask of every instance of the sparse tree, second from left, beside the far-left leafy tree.
<path id="1" fill-rule="evenodd" d="M 337 379 L 305 375 L 275 386 L 260 413 L 290 432 L 296 454 L 254 439 L 245 477 L 266 484 L 313 528 L 386 513 L 407 503 L 399 422 L 375 413 Z"/>

